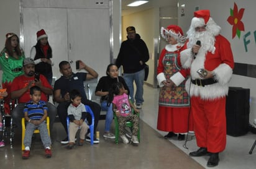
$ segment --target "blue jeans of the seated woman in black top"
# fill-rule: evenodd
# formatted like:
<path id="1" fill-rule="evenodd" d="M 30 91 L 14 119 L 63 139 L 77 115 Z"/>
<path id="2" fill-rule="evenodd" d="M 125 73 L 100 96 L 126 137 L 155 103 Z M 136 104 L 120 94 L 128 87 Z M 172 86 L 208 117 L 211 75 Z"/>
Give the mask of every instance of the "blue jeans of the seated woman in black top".
<path id="1" fill-rule="evenodd" d="M 105 132 L 109 132 L 110 127 L 111 127 L 111 123 L 112 123 L 112 120 L 113 120 L 113 117 L 114 117 L 113 110 L 112 110 L 112 103 L 109 106 L 107 106 L 107 101 L 104 100 L 101 103 L 101 110 L 107 111 L 106 121 L 105 121 Z"/>

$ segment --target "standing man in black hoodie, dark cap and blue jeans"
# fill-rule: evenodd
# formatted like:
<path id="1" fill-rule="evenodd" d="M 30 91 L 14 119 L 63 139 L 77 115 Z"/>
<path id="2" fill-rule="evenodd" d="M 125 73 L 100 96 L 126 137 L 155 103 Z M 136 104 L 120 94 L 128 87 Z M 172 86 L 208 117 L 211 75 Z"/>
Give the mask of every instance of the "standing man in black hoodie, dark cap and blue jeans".
<path id="1" fill-rule="evenodd" d="M 136 108 L 142 108 L 143 85 L 145 77 L 145 63 L 149 61 L 149 50 L 145 42 L 136 33 L 135 27 L 127 27 L 127 40 L 123 41 L 116 59 L 116 66 L 122 66 L 124 70 L 124 80 L 130 90 L 132 102 L 136 102 Z M 134 97 L 134 81 L 136 93 Z M 134 100 L 135 98 L 135 100 Z"/>

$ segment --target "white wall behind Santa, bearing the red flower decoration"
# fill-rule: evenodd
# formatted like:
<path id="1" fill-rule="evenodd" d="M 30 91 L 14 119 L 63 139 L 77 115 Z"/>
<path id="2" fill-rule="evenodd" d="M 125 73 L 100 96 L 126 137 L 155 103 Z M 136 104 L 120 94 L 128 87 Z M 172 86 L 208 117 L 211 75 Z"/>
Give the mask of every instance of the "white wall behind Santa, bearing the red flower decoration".
<path id="1" fill-rule="evenodd" d="M 178 9 L 178 24 L 183 28 L 183 30 L 188 30 L 190 26 L 191 19 L 193 17 L 193 12 L 196 9 L 196 6 L 199 9 L 209 9 L 211 11 L 211 17 L 214 21 L 222 28 L 221 34 L 226 37 L 232 47 L 234 54 L 235 63 L 245 63 L 245 64 L 254 64 L 256 65 L 256 30 L 255 24 L 255 0 L 237 0 L 238 10 L 244 8 L 244 15 L 242 17 L 242 22 L 244 23 L 245 31 L 241 32 L 240 38 L 237 36 L 232 38 L 232 25 L 227 22 L 227 18 L 230 15 L 231 9 L 234 9 L 234 1 L 229 0 L 179 0 L 179 9 Z M 181 4 L 185 4 L 185 16 L 181 17 Z M 185 31 L 186 32 L 186 31 Z M 245 38 L 245 34 L 250 33 L 248 37 Z M 245 51 L 245 41 L 249 41 L 247 46 L 247 51 Z M 253 120 L 256 118 L 256 86 L 255 78 L 233 75 L 230 86 L 234 87 L 243 87 L 250 89 L 250 123 L 253 123 Z M 241 98 L 243 99 L 243 98 Z"/>

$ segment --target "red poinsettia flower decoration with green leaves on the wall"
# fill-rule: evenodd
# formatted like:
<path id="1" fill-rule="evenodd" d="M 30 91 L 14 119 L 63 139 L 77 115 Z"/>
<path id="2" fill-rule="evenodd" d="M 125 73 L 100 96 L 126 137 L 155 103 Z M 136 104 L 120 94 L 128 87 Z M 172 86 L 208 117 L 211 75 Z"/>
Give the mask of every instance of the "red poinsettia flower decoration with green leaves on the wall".
<path id="1" fill-rule="evenodd" d="M 237 4 L 234 3 L 234 9 L 231 9 L 231 15 L 227 18 L 227 22 L 233 25 L 232 27 L 232 39 L 235 35 L 240 38 L 241 31 L 244 31 L 244 23 L 241 21 L 244 15 L 244 8 L 238 11 Z"/>

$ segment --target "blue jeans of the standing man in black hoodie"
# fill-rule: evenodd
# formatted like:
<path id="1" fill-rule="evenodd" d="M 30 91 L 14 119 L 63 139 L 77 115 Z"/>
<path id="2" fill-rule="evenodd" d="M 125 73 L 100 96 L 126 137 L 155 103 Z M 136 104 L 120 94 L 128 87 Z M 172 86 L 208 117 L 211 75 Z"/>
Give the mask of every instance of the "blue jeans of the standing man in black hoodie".
<path id="1" fill-rule="evenodd" d="M 144 85 L 144 77 L 145 77 L 145 71 L 142 69 L 139 72 L 130 73 L 130 74 L 124 74 L 124 80 L 126 81 L 127 86 L 130 90 L 130 100 L 134 102 L 134 81 L 136 85 L 136 93 L 135 93 L 135 101 L 136 104 L 141 104 L 144 102 L 143 99 L 143 85 Z"/>

